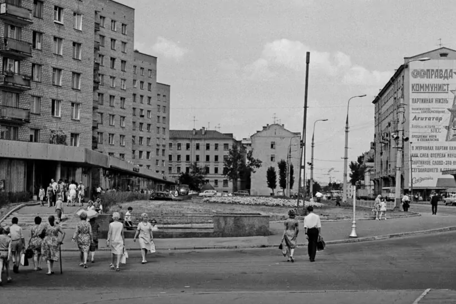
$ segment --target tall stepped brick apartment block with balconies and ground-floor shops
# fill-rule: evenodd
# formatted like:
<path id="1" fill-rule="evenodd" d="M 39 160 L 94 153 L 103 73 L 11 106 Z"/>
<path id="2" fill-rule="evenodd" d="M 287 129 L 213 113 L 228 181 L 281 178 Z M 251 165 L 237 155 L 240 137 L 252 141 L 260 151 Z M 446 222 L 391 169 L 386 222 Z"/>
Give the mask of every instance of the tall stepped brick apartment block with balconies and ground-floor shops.
<path id="1" fill-rule="evenodd" d="M 166 155 L 152 147 L 158 126 L 166 147 L 169 86 L 158 100 L 156 57 L 134 49 L 134 13 L 112 0 L 0 4 L 0 191 L 36 195 L 51 178 L 123 189 L 169 183 Z"/>

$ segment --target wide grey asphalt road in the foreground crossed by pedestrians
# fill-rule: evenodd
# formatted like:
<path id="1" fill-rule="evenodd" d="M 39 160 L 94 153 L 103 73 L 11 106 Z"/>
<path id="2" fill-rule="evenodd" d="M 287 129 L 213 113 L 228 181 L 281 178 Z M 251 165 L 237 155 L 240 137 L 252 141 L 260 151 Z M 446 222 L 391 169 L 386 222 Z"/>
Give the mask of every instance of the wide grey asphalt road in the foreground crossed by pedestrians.
<path id="1" fill-rule="evenodd" d="M 78 266 L 76 252 L 62 252 L 62 275 L 57 271 L 58 264 L 53 276 L 44 275 L 44 271 L 33 272 L 31 267 L 22 268 L 21 273 L 14 274 L 13 283 L 3 283 L 0 302 L 15 304 L 33 300 L 35 303 L 49 304 L 115 304 L 192 303 L 194 300 L 195 303 L 217 301 L 222 304 L 247 303 L 242 300 L 242 294 L 233 292 L 262 292 L 258 294 L 257 301 L 250 303 L 269 303 L 258 301 L 273 299 L 272 295 L 264 292 L 452 289 L 456 280 L 455 240 L 456 232 L 445 232 L 386 241 L 337 244 L 318 252 L 316 263 L 309 262 L 306 248 L 296 250 L 295 263 L 285 262 L 278 249 L 247 249 L 159 252 L 148 258 L 149 263 L 142 265 L 140 252 L 136 251 L 131 252 L 130 259 L 120 272 L 109 270 L 108 253 L 98 252 L 96 263 L 83 269 Z M 417 293 L 419 295 L 418 291 L 409 294 L 404 292 L 400 297 L 408 301 Z M 182 298 L 184 294 L 207 292 L 232 292 L 232 296 L 237 296 L 227 297 L 226 302 L 214 298 L 217 294 L 206 300 L 195 300 L 195 296 Z M 171 300 L 170 294 L 177 294 L 178 298 Z M 249 294 L 250 297 L 253 295 Z M 342 299 L 338 293 L 333 295 L 334 299 Z M 399 297 L 395 294 L 392 296 Z M 126 300 L 132 297 L 156 298 L 149 302 Z M 404 300 L 395 303 L 412 303 L 416 297 L 409 302 Z M 109 301 L 119 298 L 124 300 Z M 374 298 L 378 302 L 368 297 L 361 299 L 371 304 L 393 303 L 388 297 L 383 302 L 378 296 Z M 322 301 L 314 303 L 325 303 L 328 299 Z M 347 299 L 347 302 L 337 303 L 358 302 Z"/>

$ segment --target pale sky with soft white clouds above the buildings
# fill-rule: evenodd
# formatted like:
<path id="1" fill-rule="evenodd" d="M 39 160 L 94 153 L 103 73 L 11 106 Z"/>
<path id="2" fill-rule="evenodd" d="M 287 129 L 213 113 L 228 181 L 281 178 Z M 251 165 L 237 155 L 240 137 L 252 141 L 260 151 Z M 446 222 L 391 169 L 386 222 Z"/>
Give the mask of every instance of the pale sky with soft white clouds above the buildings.
<path id="1" fill-rule="evenodd" d="M 450 0 L 118 2 L 135 8 L 135 49 L 158 57 L 157 81 L 171 85 L 170 129 L 219 126 L 243 139 L 280 122 L 302 132 L 311 52 L 306 162 L 314 122 L 328 119 L 315 129 L 320 182 L 342 180 L 350 97 L 367 94 L 349 108 L 348 158 L 356 161 L 373 141 L 372 101 L 404 57 L 438 48 L 439 39 L 456 49 Z"/>

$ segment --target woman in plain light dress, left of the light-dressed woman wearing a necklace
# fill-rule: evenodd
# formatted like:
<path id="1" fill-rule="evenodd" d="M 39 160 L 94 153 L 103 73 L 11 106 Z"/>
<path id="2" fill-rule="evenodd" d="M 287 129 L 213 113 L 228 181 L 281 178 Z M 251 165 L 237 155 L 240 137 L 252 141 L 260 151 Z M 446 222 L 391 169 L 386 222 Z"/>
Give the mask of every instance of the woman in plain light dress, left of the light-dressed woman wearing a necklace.
<path id="1" fill-rule="evenodd" d="M 106 247 L 111 247 L 111 264 L 109 265 L 109 268 L 115 269 L 116 271 L 120 271 L 120 259 L 124 254 L 124 224 L 119 222 L 119 219 L 119 212 L 114 212 L 114 222 L 109 224 L 108 237 L 106 239 Z"/>

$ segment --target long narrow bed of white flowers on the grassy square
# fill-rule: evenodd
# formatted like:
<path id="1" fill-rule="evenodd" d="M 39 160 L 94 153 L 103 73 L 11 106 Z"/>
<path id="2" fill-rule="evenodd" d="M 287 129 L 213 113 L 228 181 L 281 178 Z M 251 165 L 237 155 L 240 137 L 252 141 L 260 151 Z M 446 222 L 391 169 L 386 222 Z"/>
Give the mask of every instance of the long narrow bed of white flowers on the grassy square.
<path id="1" fill-rule="evenodd" d="M 231 196 L 231 197 L 223 197 L 223 196 L 214 196 L 214 197 L 207 197 L 202 200 L 203 203 L 218 203 L 218 204 L 238 204 L 238 205 L 257 205 L 257 206 L 282 206 L 282 207 L 295 207 L 296 201 L 295 200 L 285 200 L 281 198 L 273 198 L 273 197 L 257 197 L 257 196 Z M 302 201 L 299 201 L 299 205 L 302 206 Z M 306 201 L 304 206 L 314 206 L 314 207 L 322 207 L 324 206 L 321 203 L 311 203 L 310 201 Z"/>

